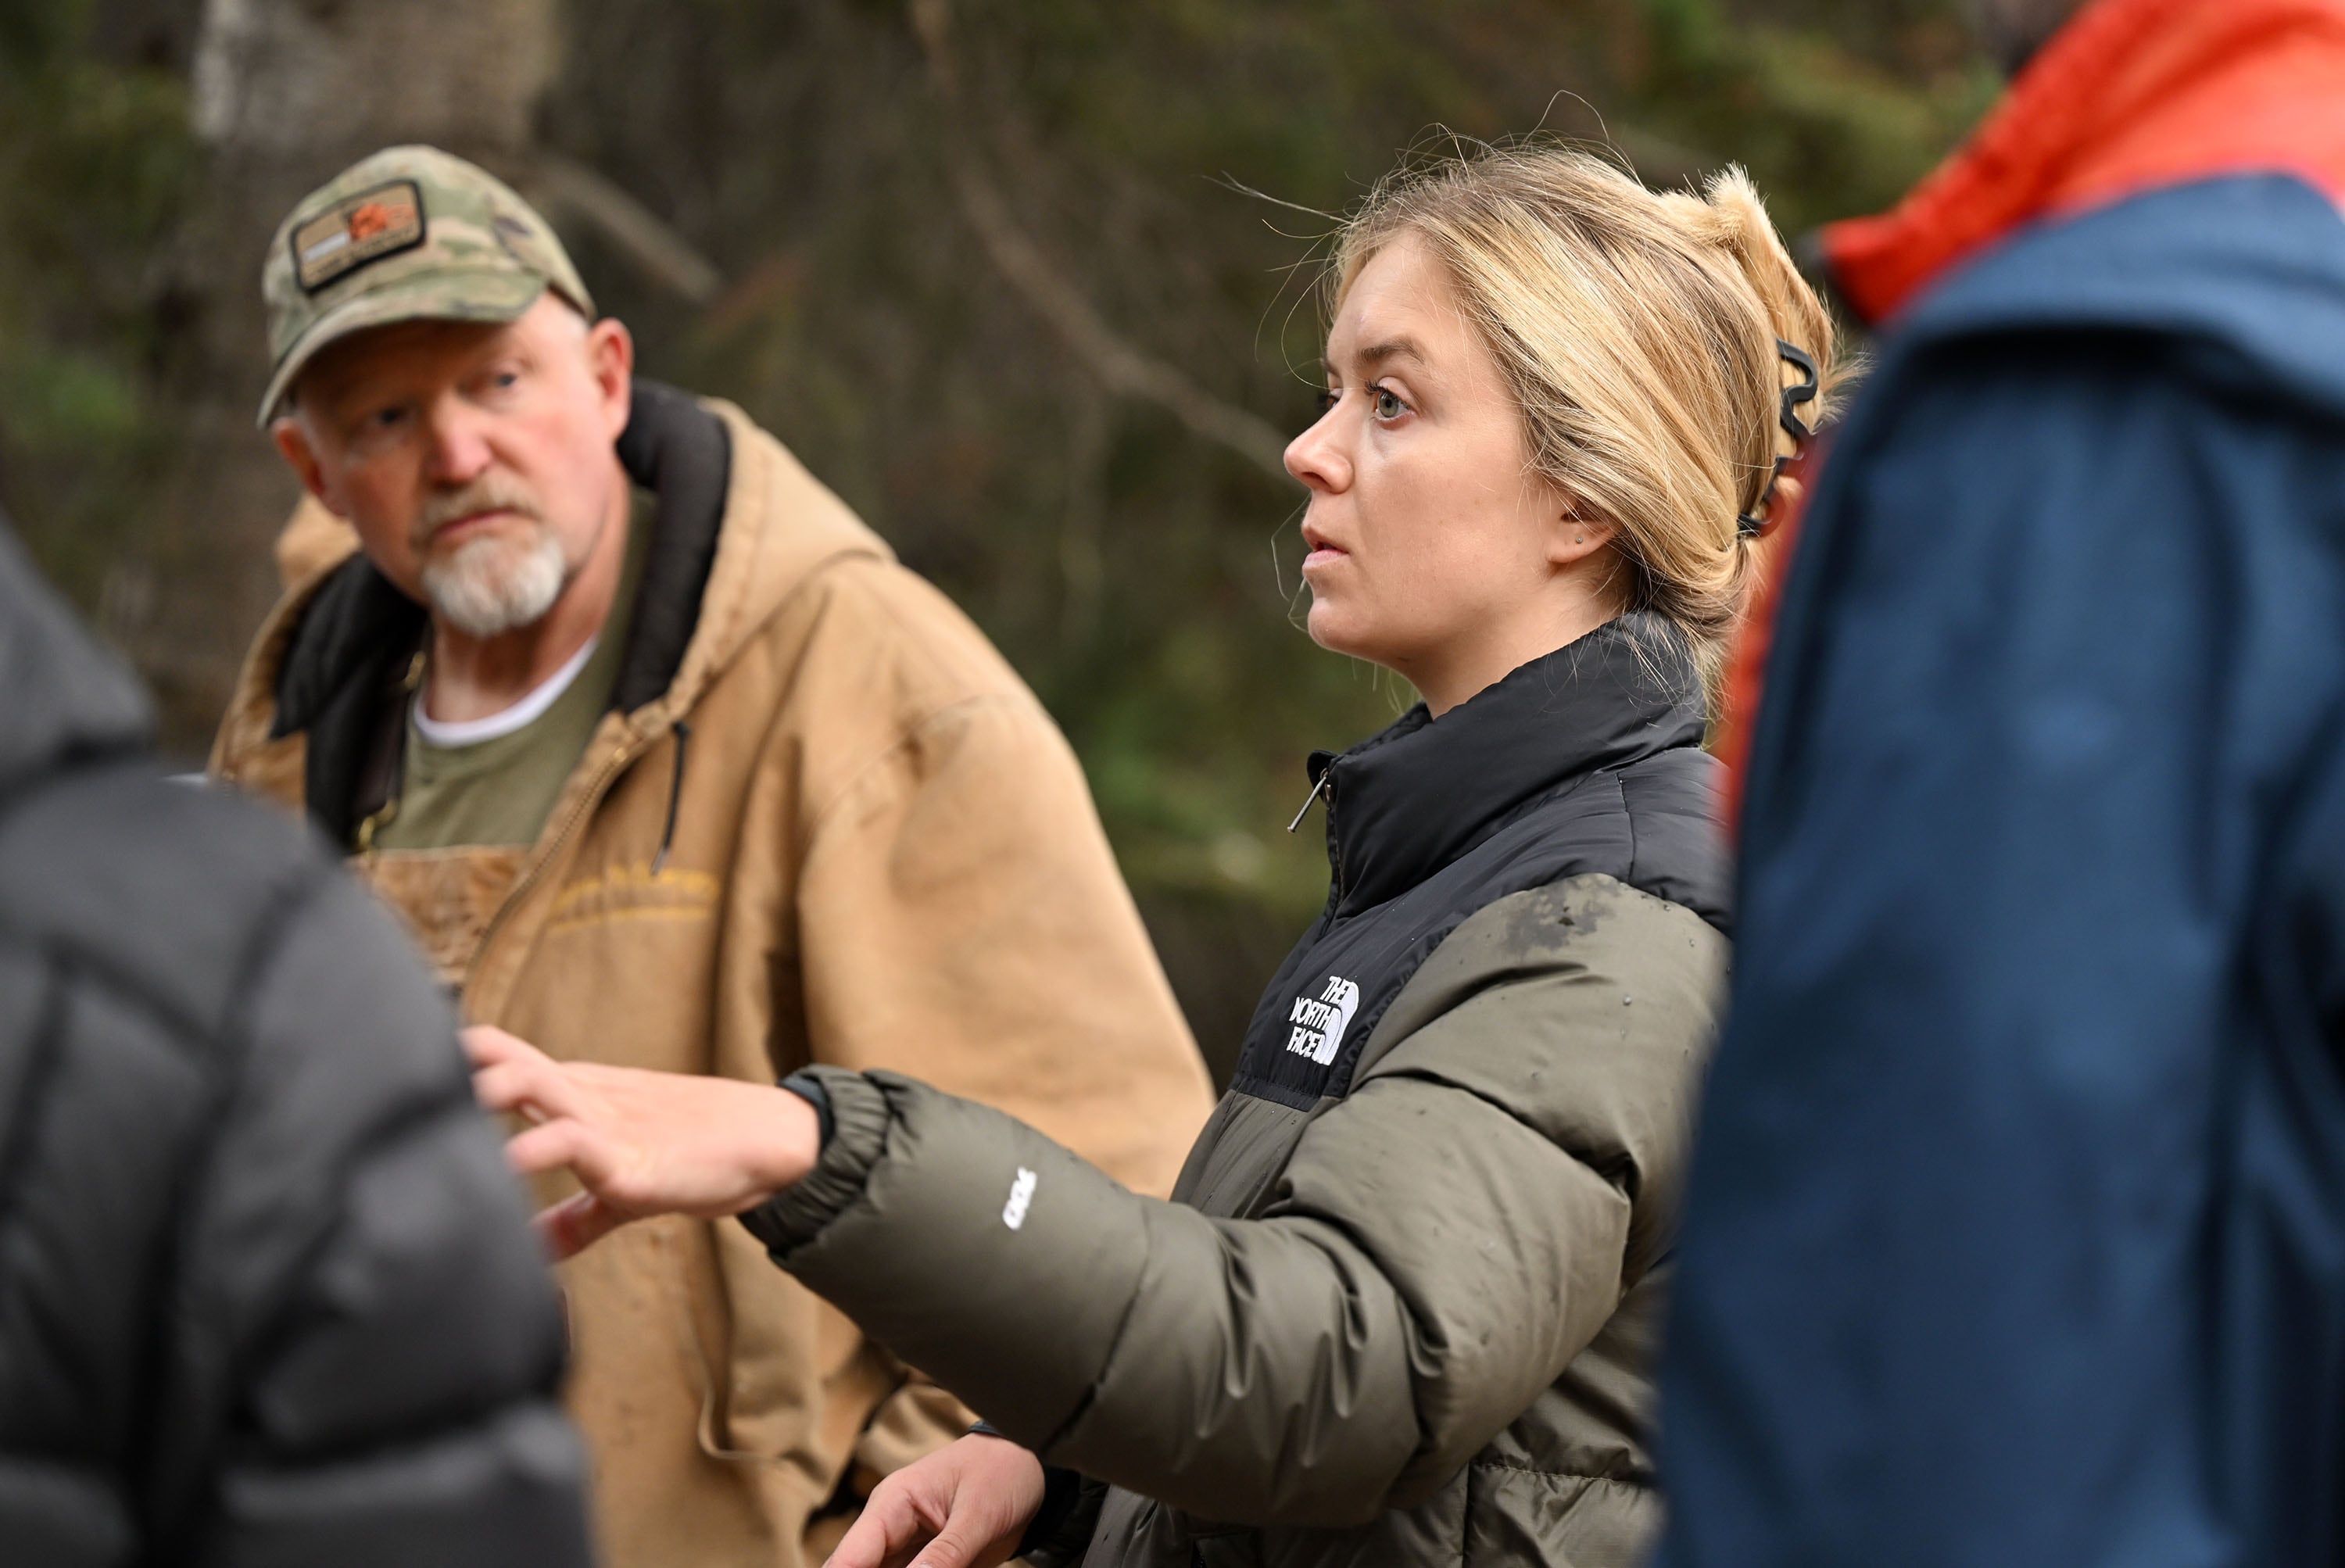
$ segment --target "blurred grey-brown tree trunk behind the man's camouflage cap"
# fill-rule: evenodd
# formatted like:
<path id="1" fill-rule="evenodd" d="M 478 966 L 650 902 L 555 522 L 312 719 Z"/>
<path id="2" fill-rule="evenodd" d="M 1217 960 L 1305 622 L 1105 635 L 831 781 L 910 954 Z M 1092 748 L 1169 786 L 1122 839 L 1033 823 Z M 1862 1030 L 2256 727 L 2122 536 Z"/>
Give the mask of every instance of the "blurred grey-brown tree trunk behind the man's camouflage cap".
<path id="1" fill-rule="evenodd" d="M 307 190 L 382 145 L 429 141 L 511 169 L 556 54 L 556 0 L 206 0 L 192 115 L 209 192 L 171 284 L 188 330 L 159 368 L 181 457 L 103 600 L 108 630 L 155 684 L 169 748 L 209 745 L 277 595 L 270 541 L 295 485 L 253 429 L 270 234 Z"/>

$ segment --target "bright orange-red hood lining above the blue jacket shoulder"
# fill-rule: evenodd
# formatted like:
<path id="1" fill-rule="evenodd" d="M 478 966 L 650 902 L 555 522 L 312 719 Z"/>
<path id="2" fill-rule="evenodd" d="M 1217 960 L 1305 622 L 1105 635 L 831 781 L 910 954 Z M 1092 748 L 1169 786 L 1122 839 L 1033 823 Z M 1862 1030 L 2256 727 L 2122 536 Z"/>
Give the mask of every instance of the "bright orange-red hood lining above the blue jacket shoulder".
<path id="1" fill-rule="evenodd" d="M 2214 176 L 2345 195 L 2345 0 L 2099 0 L 1895 211 L 1822 251 L 1867 321 L 2014 230 Z"/>

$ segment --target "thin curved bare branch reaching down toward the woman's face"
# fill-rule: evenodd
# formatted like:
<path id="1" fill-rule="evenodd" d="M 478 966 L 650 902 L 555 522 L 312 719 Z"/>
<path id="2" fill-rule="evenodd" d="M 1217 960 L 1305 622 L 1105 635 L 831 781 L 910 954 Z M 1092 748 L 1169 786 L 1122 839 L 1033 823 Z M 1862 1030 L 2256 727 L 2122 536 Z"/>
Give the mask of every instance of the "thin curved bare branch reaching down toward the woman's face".
<path id="1" fill-rule="evenodd" d="M 952 0 L 910 0 L 912 30 L 929 59 L 929 82 L 947 113 L 961 117 L 961 82 L 952 59 Z M 954 195 L 978 244 L 1018 295 L 1058 330 L 1100 382 L 1119 396 L 1156 403 L 1205 441 L 1217 441 L 1262 471 L 1287 478 L 1287 438 L 1262 415 L 1205 391 L 1184 370 L 1128 342 L 1107 316 L 1041 253 L 1011 213 L 1008 199 L 968 148 L 945 152 Z"/>

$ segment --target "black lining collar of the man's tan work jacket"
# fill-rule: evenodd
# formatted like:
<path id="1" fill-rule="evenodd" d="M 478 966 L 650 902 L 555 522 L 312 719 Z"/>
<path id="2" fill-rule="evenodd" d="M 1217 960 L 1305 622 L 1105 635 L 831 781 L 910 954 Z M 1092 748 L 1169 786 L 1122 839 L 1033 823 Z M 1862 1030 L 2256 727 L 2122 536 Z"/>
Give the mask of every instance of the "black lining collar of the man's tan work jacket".
<path id="1" fill-rule="evenodd" d="M 668 689 L 699 626 L 725 525 L 732 441 L 722 420 L 682 391 L 638 380 L 619 434 L 619 464 L 659 497 L 635 621 L 612 691 L 612 705 L 628 713 Z M 363 816 L 361 780 L 422 638 L 422 605 L 366 555 L 352 555 L 319 586 L 286 645 L 270 734 L 307 731 L 303 795 L 310 816 L 338 844 L 349 844 Z"/>

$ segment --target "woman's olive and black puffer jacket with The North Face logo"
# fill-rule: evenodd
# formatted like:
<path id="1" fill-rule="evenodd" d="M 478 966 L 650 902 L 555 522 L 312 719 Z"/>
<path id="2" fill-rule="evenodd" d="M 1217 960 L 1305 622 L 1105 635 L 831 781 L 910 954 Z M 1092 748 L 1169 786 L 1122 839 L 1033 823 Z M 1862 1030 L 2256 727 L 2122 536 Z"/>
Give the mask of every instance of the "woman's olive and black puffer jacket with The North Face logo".
<path id="1" fill-rule="evenodd" d="M 1334 888 L 1172 1202 L 821 1069 L 774 1259 L 1053 1467 L 1041 1563 L 1627 1568 L 1726 968 L 1681 642 L 1616 621 L 1313 757 Z"/>

